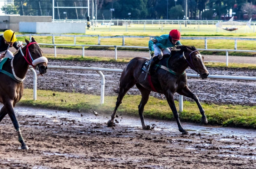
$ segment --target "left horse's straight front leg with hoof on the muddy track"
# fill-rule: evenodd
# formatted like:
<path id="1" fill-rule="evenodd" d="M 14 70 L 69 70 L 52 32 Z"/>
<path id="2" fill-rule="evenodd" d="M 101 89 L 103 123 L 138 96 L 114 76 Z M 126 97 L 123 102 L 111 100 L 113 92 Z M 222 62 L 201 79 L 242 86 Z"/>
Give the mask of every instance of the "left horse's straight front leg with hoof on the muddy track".
<path id="1" fill-rule="evenodd" d="M 13 104 L 12 101 L 6 102 L 4 104 L 6 111 L 8 112 L 8 115 L 10 116 L 13 126 L 17 131 L 17 135 L 19 137 L 19 142 L 21 143 L 21 149 L 24 150 L 28 150 L 28 146 L 25 144 L 24 139 L 21 135 L 21 131 L 20 131 L 20 124 L 19 121 L 17 120 L 15 113 L 14 113 L 14 109 L 13 109 Z"/>

